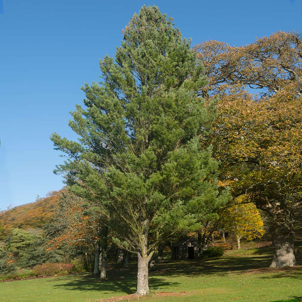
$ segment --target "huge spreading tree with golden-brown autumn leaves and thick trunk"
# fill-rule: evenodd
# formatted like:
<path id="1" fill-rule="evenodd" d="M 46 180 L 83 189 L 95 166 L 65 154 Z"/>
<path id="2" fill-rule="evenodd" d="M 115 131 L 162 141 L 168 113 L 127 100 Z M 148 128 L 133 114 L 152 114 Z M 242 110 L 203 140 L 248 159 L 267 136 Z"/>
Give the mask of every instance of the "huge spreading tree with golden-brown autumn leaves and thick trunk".
<path id="1" fill-rule="evenodd" d="M 293 266 L 293 214 L 302 197 L 301 40 L 278 32 L 244 47 L 208 41 L 195 50 L 209 79 L 201 94 L 220 96 L 205 140 L 221 161 L 220 180 L 234 197 L 249 194 L 273 220 L 271 267 Z M 254 95 L 250 88 L 262 90 Z"/>

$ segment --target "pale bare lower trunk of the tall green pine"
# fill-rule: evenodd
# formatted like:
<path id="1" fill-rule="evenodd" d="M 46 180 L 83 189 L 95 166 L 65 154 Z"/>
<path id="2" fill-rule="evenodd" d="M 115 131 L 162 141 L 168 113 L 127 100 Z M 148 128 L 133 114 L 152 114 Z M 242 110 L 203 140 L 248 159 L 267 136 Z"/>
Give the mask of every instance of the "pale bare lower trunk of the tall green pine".
<path id="1" fill-rule="evenodd" d="M 134 295 L 143 296 L 149 293 L 147 235 L 142 235 L 142 250 L 137 253 L 137 290 Z"/>

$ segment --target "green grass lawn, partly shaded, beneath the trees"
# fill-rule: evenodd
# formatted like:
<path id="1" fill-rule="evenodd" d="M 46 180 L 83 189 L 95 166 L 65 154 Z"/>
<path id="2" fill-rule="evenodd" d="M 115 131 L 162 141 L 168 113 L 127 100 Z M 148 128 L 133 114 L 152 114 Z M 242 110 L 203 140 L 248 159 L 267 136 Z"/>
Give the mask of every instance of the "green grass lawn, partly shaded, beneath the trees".
<path id="1" fill-rule="evenodd" d="M 252 244 L 252 243 L 251 243 Z M 297 255 L 302 262 L 301 253 Z M 269 302 L 302 297 L 302 266 L 267 268 L 271 251 L 265 247 L 228 251 L 221 258 L 158 263 L 149 274 L 150 302 Z M 109 269 L 108 280 L 87 273 L 0 283 L 0 300 L 6 302 L 88 302 L 135 292 L 136 265 Z M 118 300 L 118 299 L 116 299 Z M 137 300 L 131 297 L 130 301 Z M 121 301 L 120 299 L 118 301 Z M 125 300 L 127 301 L 127 299 Z"/>

